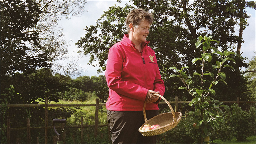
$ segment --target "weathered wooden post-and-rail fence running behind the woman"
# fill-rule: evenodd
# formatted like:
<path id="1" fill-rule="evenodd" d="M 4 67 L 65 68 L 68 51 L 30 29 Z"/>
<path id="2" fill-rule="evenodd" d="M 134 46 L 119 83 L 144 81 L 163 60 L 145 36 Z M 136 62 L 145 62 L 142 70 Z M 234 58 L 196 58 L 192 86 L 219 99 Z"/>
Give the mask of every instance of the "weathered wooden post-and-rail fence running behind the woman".
<path id="1" fill-rule="evenodd" d="M 178 97 L 175 97 L 175 101 L 169 101 L 170 104 L 175 104 L 175 112 L 178 110 L 178 103 L 189 103 L 191 101 L 178 101 Z M 237 97 L 237 101 L 222 101 L 223 103 L 237 103 L 238 106 L 240 103 L 256 103 L 255 101 L 239 101 L 239 97 Z M 159 104 L 166 104 L 166 102 L 161 101 Z M 35 129 L 45 129 L 45 143 L 48 141 L 48 129 L 53 129 L 53 126 L 48 126 L 48 107 L 90 107 L 95 106 L 95 122 L 94 125 L 83 125 L 83 117 L 81 117 L 81 124 L 76 126 L 66 126 L 66 128 L 81 128 L 81 142 L 83 143 L 83 128 L 94 127 L 94 137 L 98 135 L 98 127 L 106 127 L 108 124 L 99 125 L 99 106 L 105 106 L 105 104 L 99 104 L 99 99 L 96 99 L 95 104 L 48 104 L 48 97 L 45 98 L 45 104 L 19 104 L 19 105 L 7 105 L 7 107 L 45 107 L 45 126 L 44 127 L 30 127 L 30 119 L 27 118 L 27 127 L 22 128 L 10 128 L 10 119 L 7 119 L 7 143 L 10 143 L 10 131 L 16 130 L 27 130 L 27 143 L 31 143 L 30 138 L 30 130 Z M 1 106 L 2 107 L 2 106 Z M 62 117 L 65 118 L 65 117 Z M 56 128 L 63 128 L 62 126 L 58 126 Z M 108 129 L 109 126 L 108 126 Z M 109 132 L 109 130 L 108 130 Z M 57 143 L 57 136 L 54 136 L 54 139 Z M 65 141 L 66 133 L 65 130 L 62 134 L 62 139 Z M 110 133 L 109 133 L 110 139 Z M 19 143 L 19 139 L 16 138 L 16 143 Z M 38 143 L 38 137 L 37 137 Z"/>

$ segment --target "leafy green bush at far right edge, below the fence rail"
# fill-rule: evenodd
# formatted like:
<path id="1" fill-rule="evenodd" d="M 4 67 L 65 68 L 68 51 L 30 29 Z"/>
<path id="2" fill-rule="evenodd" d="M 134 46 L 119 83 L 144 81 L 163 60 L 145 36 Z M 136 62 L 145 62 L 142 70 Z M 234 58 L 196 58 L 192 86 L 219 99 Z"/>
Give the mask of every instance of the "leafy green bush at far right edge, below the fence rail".
<path id="1" fill-rule="evenodd" d="M 249 112 L 242 110 L 237 104 L 231 105 L 231 115 L 227 114 L 227 124 L 234 128 L 237 141 L 245 141 L 247 137 L 255 135 L 255 106 Z"/>

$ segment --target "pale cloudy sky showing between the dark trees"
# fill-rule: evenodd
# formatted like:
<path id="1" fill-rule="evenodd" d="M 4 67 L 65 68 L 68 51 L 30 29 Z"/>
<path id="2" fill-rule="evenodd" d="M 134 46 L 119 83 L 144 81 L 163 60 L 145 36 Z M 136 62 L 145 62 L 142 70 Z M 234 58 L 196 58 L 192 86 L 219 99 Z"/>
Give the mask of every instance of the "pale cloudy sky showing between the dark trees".
<path id="1" fill-rule="evenodd" d="M 75 46 L 75 43 L 81 37 L 84 37 L 86 32 L 83 30 L 86 26 L 96 25 L 96 20 L 100 18 L 100 16 L 107 11 L 110 6 L 114 4 L 125 6 L 129 1 L 122 1 L 121 4 L 116 3 L 116 1 L 87 1 L 84 9 L 87 12 L 81 14 L 80 17 L 70 17 L 70 19 L 61 19 L 59 21 L 59 26 L 63 28 L 63 33 L 65 35 L 64 39 L 66 39 L 69 43 L 68 46 L 68 55 L 72 55 L 77 58 L 77 52 L 79 51 L 78 47 Z M 247 8 L 247 14 L 251 14 L 251 17 L 248 19 L 249 26 L 243 30 L 243 39 L 244 43 L 241 47 L 241 52 L 243 57 L 252 58 L 255 55 L 254 51 L 256 49 L 256 12 L 254 9 Z M 239 34 L 239 27 L 236 27 L 236 35 Z M 97 70 L 99 67 L 93 67 L 91 65 L 87 65 L 89 62 L 89 55 L 83 56 L 80 58 L 77 63 L 80 64 L 82 69 L 85 71 L 81 72 L 81 75 L 78 76 L 99 76 L 105 75 L 105 72 L 98 74 Z M 248 60 L 247 60 L 248 62 Z M 95 62 L 94 64 L 97 64 Z M 242 70 L 245 70 L 242 68 Z M 78 76 L 73 76 L 72 78 L 76 78 Z"/>

